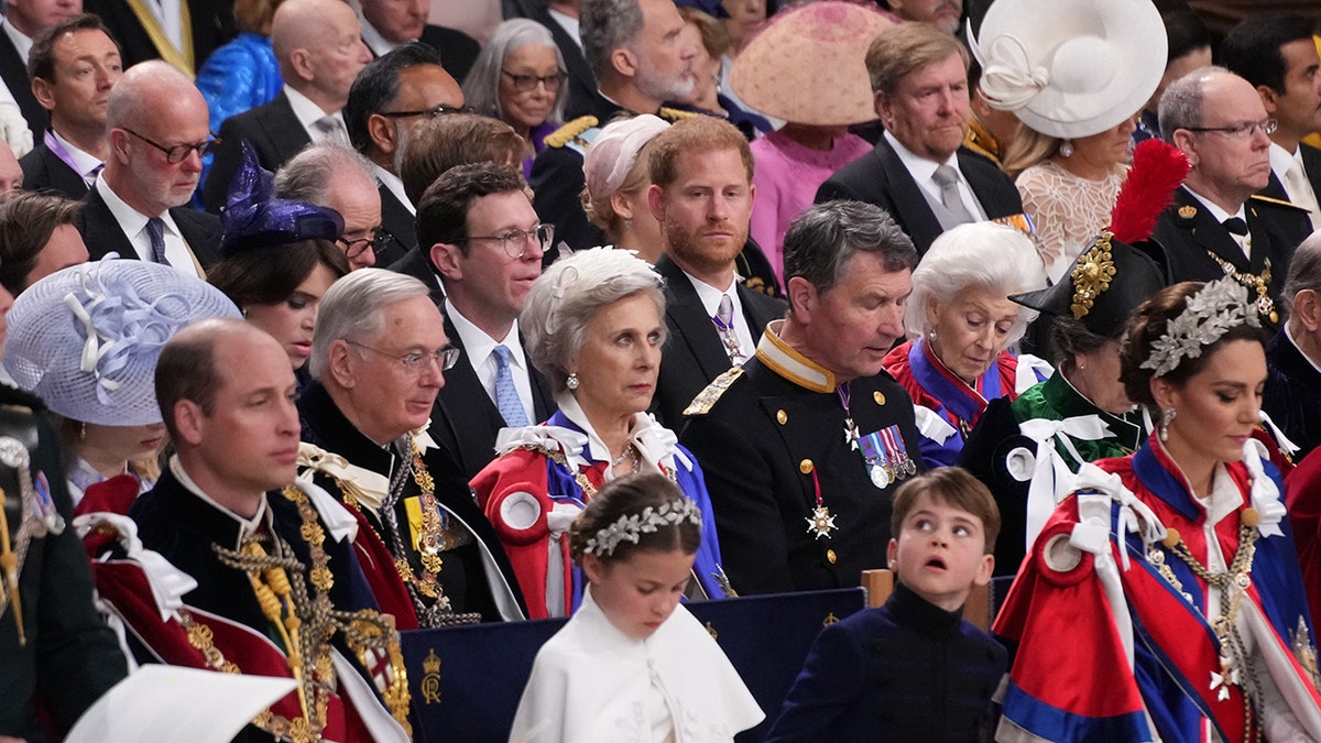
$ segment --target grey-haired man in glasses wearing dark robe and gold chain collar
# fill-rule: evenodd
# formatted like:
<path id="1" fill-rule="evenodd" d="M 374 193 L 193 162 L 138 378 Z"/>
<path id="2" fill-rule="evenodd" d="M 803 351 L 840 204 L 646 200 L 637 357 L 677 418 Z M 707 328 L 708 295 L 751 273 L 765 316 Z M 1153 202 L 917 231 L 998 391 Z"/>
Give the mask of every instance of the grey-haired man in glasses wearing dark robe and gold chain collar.
<path id="1" fill-rule="evenodd" d="M 357 514 L 367 580 L 400 629 L 524 616 L 468 477 L 427 434 L 458 356 L 412 276 L 363 268 L 321 299 L 300 465 Z"/>

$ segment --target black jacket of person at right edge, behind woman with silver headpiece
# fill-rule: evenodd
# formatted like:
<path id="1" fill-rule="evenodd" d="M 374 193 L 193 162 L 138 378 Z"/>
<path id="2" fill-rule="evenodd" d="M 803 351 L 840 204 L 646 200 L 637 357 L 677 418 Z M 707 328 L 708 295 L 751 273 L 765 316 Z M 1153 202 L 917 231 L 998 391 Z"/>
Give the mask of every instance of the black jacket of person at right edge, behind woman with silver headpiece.
<path id="1" fill-rule="evenodd" d="M 1293 461 L 1321 444 L 1321 372 L 1281 329 L 1266 344 L 1266 391 L 1262 410 L 1299 446 Z"/>

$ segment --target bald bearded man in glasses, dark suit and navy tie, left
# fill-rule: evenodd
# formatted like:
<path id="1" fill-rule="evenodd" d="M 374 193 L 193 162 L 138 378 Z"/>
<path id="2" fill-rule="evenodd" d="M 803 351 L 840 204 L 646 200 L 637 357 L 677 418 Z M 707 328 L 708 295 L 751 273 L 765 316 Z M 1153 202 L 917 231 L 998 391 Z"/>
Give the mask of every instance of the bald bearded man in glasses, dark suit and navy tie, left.
<path id="1" fill-rule="evenodd" d="M 110 159 L 77 222 L 89 255 L 118 253 L 205 278 L 222 230 L 186 206 L 213 141 L 202 94 L 169 63 L 143 62 L 111 90 L 106 126 Z"/>

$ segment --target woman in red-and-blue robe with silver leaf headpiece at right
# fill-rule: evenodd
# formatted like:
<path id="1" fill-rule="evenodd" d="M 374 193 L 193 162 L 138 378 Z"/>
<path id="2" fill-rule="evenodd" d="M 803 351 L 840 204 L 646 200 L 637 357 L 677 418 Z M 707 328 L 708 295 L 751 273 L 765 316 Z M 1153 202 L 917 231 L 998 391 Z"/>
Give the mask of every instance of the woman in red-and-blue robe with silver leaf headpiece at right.
<path id="1" fill-rule="evenodd" d="M 1266 383 L 1230 279 L 1157 292 L 1120 350 L 1157 432 L 1083 465 L 995 631 L 1017 643 L 999 740 L 1317 740 L 1316 649 L 1279 473 L 1251 436 Z"/>

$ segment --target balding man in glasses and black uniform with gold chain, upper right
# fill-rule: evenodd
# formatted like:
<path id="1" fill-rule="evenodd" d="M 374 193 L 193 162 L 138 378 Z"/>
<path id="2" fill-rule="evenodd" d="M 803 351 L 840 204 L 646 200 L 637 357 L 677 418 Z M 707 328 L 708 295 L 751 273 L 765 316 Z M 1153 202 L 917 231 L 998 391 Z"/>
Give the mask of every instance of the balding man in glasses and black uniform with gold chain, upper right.
<path id="1" fill-rule="evenodd" d="M 1289 258 L 1312 231 L 1305 209 L 1256 194 L 1271 178 L 1275 127 L 1252 83 L 1223 67 L 1170 83 L 1160 100 L 1160 131 L 1192 171 L 1153 234 L 1170 283 L 1231 276 L 1269 329 L 1283 317 L 1276 300 Z"/>

